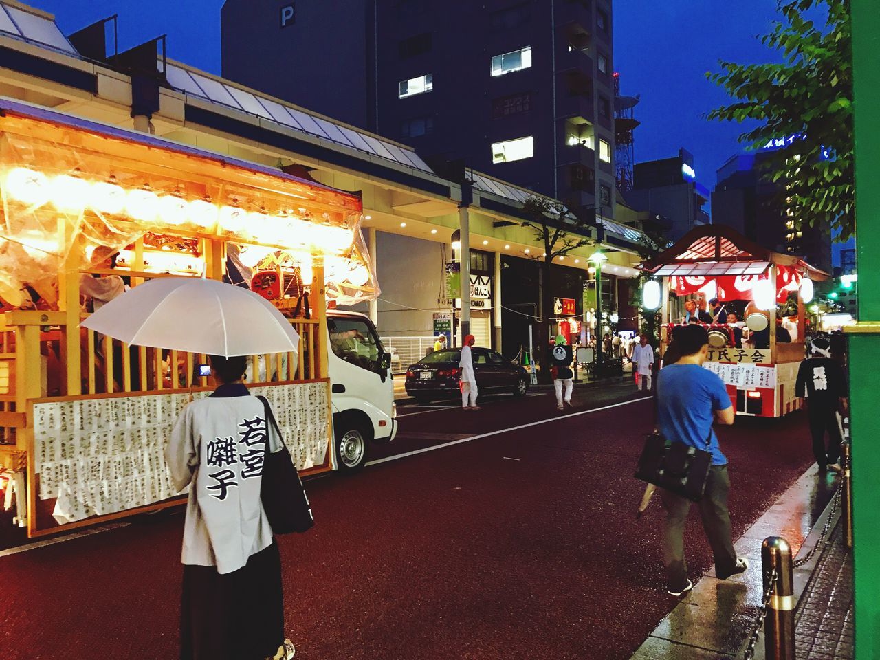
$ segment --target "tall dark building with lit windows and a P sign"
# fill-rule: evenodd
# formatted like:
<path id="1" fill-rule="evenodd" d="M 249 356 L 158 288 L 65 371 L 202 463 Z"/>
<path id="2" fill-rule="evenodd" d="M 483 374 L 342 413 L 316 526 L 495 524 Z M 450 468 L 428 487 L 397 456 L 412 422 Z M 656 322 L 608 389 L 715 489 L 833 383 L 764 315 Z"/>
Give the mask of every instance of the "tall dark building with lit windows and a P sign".
<path id="1" fill-rule="evenodd" d="M 224 77 L 411 144 L 438 172 L 612 216 L 611 0 L 226 0 L 221 17 Z"/>

